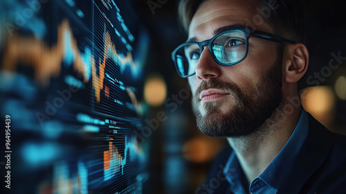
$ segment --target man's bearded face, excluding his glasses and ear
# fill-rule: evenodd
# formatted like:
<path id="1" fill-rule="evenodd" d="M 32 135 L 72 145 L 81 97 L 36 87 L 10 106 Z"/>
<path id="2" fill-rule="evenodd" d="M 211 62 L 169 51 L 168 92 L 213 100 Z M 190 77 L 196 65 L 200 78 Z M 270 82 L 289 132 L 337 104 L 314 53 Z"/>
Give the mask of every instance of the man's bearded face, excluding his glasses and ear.
<path id="1" fill-rule="evenodd" d="M 189 39 L 215 36 L 215 30 L 253 21 L 257 1 L 208 0 L 192 18 Z M 256 16 L 258 17 L 258 15 Z M 256 30 L 273 33 L 264 22 Z M 274 42 L 250 37 L 248 55 L 233 66 L 222 67 L 207 48 L 196 74 L 188 78 L 192 107 L 199 130 L 210 136 L 246 136 L 255 132 L 282 102 L 282 55 Z"/>

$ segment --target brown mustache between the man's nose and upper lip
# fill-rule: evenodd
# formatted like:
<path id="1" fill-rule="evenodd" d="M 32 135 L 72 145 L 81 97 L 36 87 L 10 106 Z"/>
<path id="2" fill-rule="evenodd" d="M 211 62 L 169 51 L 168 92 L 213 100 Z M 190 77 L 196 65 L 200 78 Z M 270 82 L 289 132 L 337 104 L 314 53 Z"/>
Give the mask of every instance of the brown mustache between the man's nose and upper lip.
<path id="1" fill-rule="evenodd" d="M 197 87 L 196 93 L 194 94 L 194 99 L 199 98 L 199 94 L 203 90 L 207 89 L 222 89 L 224 91 L 229 91 L 234 98 L 239 98 L 244 96 L 242 90 L 234 83 L 224 82 L 221 80 L 203 80 Z"/>

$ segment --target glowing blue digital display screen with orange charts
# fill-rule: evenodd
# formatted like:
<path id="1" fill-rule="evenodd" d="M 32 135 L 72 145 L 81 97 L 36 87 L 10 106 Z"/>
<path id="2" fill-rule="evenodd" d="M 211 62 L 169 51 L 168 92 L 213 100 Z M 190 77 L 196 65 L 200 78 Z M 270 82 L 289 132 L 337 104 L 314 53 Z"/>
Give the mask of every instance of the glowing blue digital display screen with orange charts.
<path id="1" fill-rule="evenodd" d="M 148 37 L 130 1 L 2 1 L 0 12 L 1 191 L 143 193 Z"/>

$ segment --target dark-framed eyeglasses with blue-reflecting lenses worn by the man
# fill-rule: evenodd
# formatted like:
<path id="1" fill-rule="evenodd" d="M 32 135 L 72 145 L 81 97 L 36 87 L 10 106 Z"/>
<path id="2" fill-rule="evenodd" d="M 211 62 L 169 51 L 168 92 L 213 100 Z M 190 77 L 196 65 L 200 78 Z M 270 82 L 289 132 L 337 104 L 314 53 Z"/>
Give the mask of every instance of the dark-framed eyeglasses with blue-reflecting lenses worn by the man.
<path id="1" fill-rule="evenodd" d="M 248 54 L 248 37 L 251 35 L 273 42 L 295 42 L 283 37 L 248 28 L 227 30 L 203 42 L 185 42 L 174 49 L 172 60 L 181 78 L 187 78 L 196 73 L 197 64 L 203 51 L 208 45 L 212 58 L 221 66 L 237 64 Z"/>

